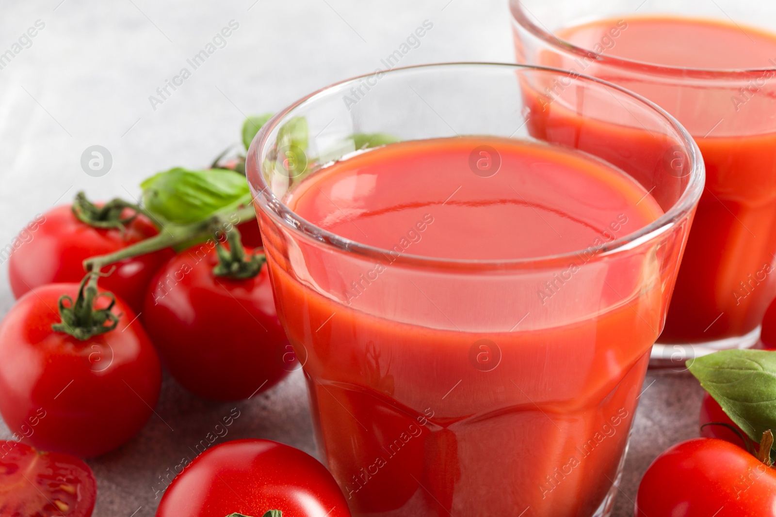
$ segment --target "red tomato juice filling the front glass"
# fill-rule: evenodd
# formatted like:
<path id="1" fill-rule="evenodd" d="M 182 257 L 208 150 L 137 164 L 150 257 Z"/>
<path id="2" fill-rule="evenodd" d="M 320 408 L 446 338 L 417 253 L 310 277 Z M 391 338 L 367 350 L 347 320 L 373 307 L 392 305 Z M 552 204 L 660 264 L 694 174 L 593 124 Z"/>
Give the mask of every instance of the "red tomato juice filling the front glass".
<path id="1" fill-rule="evenodd" d="M 469 165 L 483 145 L 501 160 L 488 178 Z M 667 296 L 655 250 L 605 267 L 570 259 L 579 267 L 565 283 L 538 268 L 535 284 L 556 287 L 539 304 L 536 288 L 509 291 L 487 275 L 466 283 L 443 264 L 408 281 L 393 260 L 600 247 L 662 215 L 647 191 L 584 153 L 467 137 L 350 157 L 285 202 L 317 226 L 390 250 L 368 269 L 342 260 L 333 271 L 331 252 L 281 250 L 265 234 L 320 451 L 353 514 L 592 515 L 617 475 L 660 329 Z M 340 276 L 353 281 L 337 291 Z M 397 290 L 410 292 L 400 306 L 390 302 Z M 522 296 L 546 314 L 524 314 Z"/>

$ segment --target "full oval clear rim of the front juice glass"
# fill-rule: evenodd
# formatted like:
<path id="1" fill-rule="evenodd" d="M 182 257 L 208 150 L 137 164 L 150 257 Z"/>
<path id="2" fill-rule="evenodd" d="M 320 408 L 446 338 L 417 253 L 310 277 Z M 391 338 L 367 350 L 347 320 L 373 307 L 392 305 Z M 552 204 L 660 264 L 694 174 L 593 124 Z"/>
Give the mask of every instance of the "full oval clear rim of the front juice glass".
<path id="1" fill-rule="evenodd" d="M 453 258 L 440 258 L 440 257 L 425 257 L 423 255 L 414 255 L 411 253 L 401 253 L 398 257 L 393 257 L 390 253 L 391 250 L 385 250 L 376 246 L 369 246 L 368 244 L 359 243 L 355 240 L 349 240 L 343 236 L 339 236 L 336 233 L 329 232 L 326 229 L 320 228 L 307 221 L 296 212 L 282 202 L 282 199 L 275 196 L 270 186 L 267 184 L 263 174 L 263 160 L 261 159 L 263 151 L 265 151 L 268 145 L 272 145 L 272 141 L 269 139 L 273 130 L 278 128 L 282 122 L 286 122 L 286 118 L 291 115 L 296 109 L 303 105 L 314 102 L 317 98 L 327 95 L 328 92 L 334 91 L 336 88 L 348 86 L 350 84 L 356 84 L 358 81 L 362 81 L 365 78 L 376 77 L 378 74 L 391 74 L 396 76 L 398 74 L 404 74 L 406 72 L 414 71 L 433 71 L 440 67 L 444 68 L 461 68 L 477 67 L 490 70 L 504 69 L 511 71 L 545 71 L 553 74 L 569 74 L 569 71 L 562 70 L 560 68 L 552 67 L 539 67 L 535 65 L 527 64 L 511 64 L 511 63 L 484 63 L 484 62 L 452 62 L 452 63 L 436 63 L 436 64 L 420 64 L 409 67 L 396 67 L 389 71 L 375 71 L 371 74 L 359 75 L 355 78 L 346 79 L 345 81 L 338 81 L 334 84 L 330 84 L 324 88 L 320 88 L 298 101 L 289 105 L 285 109 L 282 109 L 276 113 L 272 119 L 265 122 L 264 126 L 254 137 L 251 142 L 251 146 L 248 150 L 246 157 L 246 175 L 248 178 L 248 185 L 251 188 L 252 198 L 256 204 L 262 206 L 262 212 L 267 214 L 275 222 L 290 229 L 293 233 L 302 236 L 304 239 L 311 240 L 318 245 L 329 246 L 344 253 L 355 253 L 363 257 L 374 258 L 377 260 L 385 260 L 386 257 L 391 257 L 393 260 L 392 265 L 404 264 L 420 267 L 434 267 L 434 266 L 446 266 L 448 268 L 458 269 L 476 269 L 476 270 L 503 270 L 511 267 L 540 267 L 551 266 L 554 264 L 563 264 L 569 259 L 579 257 L 580 253 L 589 253 L 590 247 L 583 248 L 581 250 L 573 250 L 566 253 L 556 253 L 554 255 L 543 255 L 539 257 L 524 257 L 514 259 L 487 259 L 487 260 L 469 260 L 469 259 L 453 259 Z M 660 108 L 660 106 L 651 102 L 649 99 L 637 95 L 632 91 L 626 90 L 616 84 L 602 81 L 598 78 L 592 78 L 586 75 L 578 75 L 577 80 L 593 82 L 602 84 L 605 88 L 615 89 L 622 94 L 625 94 L 631 98 L 635 98 L 637 101 L 643 103 L 647 108 L 656 112 L 657 115 L 668 123 L 668 125 L 674 129 L 674 131 L 681 138 L 677 143 L 682 145 L 685 150 L 688 151 L 688 158 L 690 160 L 691 169 L 688 174 L 688 184 L 684 188 L 681 196 L 674 202 L 663 215 L 655 219 L 650 224 L 645 225 L 632 233 L 628 233 L 618 239 L 611 240 L 602 246 L 594 246 L 596 253 L 591 260 L 600 259 L 613 253 L 630 250 L 642 243 L 648 242 L 660 234 L 666 232 L 674 224 L 686 217 L 694 208 L 696 203 L 701 197 L 704 183 L 705 183 L 705 166 L 701 157 L 701 151 L 698 149 L 698 144 L 692 138 L 690 133 L 684 126 L 674 119 L 668 112 Z M 268 205 L 275 206 L 279 212 L 268 209 Z M 296 222 L 296 224 L 291 221 Z"/>

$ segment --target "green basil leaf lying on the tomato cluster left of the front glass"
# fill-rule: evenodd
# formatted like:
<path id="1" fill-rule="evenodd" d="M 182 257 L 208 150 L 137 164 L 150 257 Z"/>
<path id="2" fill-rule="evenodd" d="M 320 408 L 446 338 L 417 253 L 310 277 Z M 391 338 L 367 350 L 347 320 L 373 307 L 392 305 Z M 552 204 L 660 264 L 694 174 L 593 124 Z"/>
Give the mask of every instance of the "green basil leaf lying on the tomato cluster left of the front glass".
<path id="1" fill-rule="evenodd" d="M 151 176 L 140 187 L 145 209 L 175 224 L 201 221 L 246 197 L 250 199 L 245 177 L 227 169 L 189 171 L 175 167 Z"/>

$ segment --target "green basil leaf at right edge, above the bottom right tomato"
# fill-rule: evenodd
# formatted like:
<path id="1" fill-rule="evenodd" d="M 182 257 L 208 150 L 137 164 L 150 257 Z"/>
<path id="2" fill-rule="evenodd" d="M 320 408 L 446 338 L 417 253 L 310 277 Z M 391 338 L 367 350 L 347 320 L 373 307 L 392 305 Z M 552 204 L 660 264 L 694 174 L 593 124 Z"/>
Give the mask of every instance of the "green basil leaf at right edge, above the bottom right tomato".
<path id="1" fill-rule="evenodd" d="M 688 360 L 687 366 L 755 443 L 768 429 L 776 431 L 776 352 L 722 350 Z"/>

